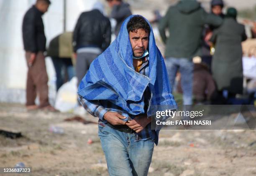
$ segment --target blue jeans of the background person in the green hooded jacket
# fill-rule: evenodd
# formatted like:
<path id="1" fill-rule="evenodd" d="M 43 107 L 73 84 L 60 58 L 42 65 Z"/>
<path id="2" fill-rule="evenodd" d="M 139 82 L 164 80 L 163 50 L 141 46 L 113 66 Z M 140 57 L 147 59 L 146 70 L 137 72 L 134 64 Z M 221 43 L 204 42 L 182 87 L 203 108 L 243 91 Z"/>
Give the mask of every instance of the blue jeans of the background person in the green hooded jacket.
<path id="1" fill-rule="evenodd" d="M 183 91 L 183 104 L 192 105 L 193 96 L 193 70 L 192 59 L 166 58 L 164 60 L 171 85 L 174 86 L 177 71 L 181 73 L 181 86 Z"/>

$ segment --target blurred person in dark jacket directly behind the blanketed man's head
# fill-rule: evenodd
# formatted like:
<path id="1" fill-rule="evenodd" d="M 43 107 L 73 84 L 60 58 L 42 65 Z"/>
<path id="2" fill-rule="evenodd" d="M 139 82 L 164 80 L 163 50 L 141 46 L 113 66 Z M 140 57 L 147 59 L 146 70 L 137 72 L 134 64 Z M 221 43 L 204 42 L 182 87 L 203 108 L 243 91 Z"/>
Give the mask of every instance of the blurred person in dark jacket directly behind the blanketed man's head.
<path id="1" fill-rule="evenodd" d="M 114 18 L 116 20 L 115 35 L 118 36 L 123 21 L 132 14 L 130 5 L 128 3 L 124 3 L 122 0 L 107 1 L 110 8 L 113 8 L 110 18 Z"/>

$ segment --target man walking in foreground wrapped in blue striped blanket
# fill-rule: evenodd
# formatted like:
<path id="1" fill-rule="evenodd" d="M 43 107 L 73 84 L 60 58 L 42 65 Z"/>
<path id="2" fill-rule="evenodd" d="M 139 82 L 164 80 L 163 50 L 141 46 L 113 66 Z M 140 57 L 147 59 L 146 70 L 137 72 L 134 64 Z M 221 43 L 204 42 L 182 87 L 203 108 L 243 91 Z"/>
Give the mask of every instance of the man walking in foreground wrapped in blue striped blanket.
<path id="1" fill-rule="evenodd" d="M 79 101 L 99 118 L 98 136 L 110 176 L 146 176 L 158 129 L 156 111 L 177 109 L 164 59 L 145 18 L 128 17 L 117 39 L 90 65 Z"/>

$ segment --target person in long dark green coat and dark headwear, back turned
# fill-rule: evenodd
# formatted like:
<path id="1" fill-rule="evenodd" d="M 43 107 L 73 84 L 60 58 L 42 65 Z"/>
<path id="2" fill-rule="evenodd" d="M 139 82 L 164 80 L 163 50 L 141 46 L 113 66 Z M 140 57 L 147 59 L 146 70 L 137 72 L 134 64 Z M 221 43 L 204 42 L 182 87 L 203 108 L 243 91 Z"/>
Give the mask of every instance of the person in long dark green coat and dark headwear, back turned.
<path id="1" fill-rule="evenodd" d="M 210 41 L 215 44 L 212 74 L 220 94 L 228 91 L 226 98 L 243 93 L 243 65 L 241 42 L 246 40 L 244 25 L 236 21 L 237 11 L 228 8 L 220 28 L 213 31 Z M 232 102 L 231 102 L 232 103 Z"/>

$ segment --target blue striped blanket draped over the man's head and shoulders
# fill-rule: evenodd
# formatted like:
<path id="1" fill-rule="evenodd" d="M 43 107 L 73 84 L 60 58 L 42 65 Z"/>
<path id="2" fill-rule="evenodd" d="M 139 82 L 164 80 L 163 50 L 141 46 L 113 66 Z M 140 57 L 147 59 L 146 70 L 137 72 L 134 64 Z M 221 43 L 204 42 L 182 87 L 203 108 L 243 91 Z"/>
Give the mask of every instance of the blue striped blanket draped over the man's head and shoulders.
<path id="1" fill-rule="evenodd" d="M 144 113 L 143 92 L 148 86 L 151 91 L 148 116 L 166 108 L 176 109 L 164 59 L 156 46 L 152 28 L 148 43 L 148 76 L 133 68 L 133 49 L 127 30 L 127 23 L 133 16 L 123 22 L 118 37 L 92 62 L 79 84 L 78 94 L 88 101 L 108 100 L 136 116 Z"/>

